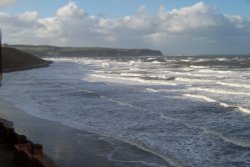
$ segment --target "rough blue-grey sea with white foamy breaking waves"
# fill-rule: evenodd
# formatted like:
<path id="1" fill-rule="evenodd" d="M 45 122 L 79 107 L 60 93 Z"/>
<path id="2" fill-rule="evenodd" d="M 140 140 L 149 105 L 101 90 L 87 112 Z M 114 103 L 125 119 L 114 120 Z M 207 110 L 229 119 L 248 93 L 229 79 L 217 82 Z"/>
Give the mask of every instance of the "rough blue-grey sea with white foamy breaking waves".
<path id="1" fill-rule="evenodd" d="M 249 167 L 250 57 L 53 57 L 5 75 L 1 97 L 28 114 L 152 155 L 131 167 Z M 132 153 L 131 153 L 132 155 Z M 155 158 L 157 157 L 157 158 Z"/>

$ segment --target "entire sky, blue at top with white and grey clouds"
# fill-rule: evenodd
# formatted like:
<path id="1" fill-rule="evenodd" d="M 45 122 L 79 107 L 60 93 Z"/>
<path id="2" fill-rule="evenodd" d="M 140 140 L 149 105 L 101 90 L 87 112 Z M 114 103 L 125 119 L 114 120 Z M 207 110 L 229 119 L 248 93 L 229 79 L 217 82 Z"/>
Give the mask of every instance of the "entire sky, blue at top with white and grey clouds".
<path id="1" fill-rule="evenodd" d="M 249 54 L 250 0 L 0 0 L 8 44 Z"/>

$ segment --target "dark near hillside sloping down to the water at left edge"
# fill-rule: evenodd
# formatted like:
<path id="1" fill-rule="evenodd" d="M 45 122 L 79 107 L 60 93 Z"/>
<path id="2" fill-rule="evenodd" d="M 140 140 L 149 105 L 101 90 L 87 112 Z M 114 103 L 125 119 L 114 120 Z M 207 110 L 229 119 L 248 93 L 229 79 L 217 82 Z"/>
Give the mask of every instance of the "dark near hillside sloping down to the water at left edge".
<path id="1" fill-rule="evenodd" d="M 47 67 L 51 62 L 14 48 L 2 48 L 3 72 Z"/>

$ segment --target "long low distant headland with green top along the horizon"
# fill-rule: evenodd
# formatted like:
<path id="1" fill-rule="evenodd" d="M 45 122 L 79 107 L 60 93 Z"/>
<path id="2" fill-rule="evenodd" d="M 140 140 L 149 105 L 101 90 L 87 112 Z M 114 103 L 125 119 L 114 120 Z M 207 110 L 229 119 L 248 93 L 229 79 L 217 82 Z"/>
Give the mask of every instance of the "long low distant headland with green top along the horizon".
<path id="1" fill-rule="evenodd" d="M 38 57 L 107 57 L 107 56 L 161 56 L 159 50 L 151 49 L 115 49 L 98 47 L 55 47 L 11 45 L 11 47 L 31 53 Z"/>

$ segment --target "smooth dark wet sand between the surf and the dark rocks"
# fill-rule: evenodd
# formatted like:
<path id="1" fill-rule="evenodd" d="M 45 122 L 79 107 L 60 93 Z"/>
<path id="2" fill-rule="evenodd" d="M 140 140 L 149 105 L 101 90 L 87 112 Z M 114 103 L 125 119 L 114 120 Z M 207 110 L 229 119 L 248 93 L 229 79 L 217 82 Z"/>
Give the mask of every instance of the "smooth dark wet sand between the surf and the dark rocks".
<path id="1" fill-rule="evenodd" d="M 28 115 L 1 98 L 0 118 L 13 122 L 17 133 L 42 144 L 45 154 L 61 167 L 140 166 L 141 157 L 152 158 L 152 154 L 127 143 Z"/>

